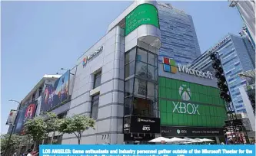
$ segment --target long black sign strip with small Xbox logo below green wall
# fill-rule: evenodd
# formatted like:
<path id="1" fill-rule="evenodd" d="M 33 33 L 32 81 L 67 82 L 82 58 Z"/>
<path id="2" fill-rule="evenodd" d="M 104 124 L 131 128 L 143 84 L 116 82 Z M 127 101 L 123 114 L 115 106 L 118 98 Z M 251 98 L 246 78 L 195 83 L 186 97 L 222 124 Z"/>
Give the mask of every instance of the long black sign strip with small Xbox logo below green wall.
<path id="1" fill-rule="evenodd" d="M 161 135 L 164 137 L 224 136 L 224 128 L 161 126 Z"/>

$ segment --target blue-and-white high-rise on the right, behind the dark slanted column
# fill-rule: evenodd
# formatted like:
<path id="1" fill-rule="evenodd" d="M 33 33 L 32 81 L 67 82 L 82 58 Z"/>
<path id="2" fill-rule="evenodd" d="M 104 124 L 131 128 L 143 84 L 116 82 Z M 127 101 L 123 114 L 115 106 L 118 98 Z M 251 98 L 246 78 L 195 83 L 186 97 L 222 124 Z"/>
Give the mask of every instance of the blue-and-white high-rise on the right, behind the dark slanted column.
<path id="1" fill-rule="evenodd" d="M 224 40 L 190 63 L 189 67 L 196 70 L 212 71 L 209 54 L 214 52 L 217 52 L 221 57 L 221 64 L 224 68 L 226 80 L 228 81 L 228 88 L 231 92 L 231 99 L 234 103 L 235 111 L 246 112 L 239 91 L 239 87 L 246 85 L 246 80 L 241 80 L 238 73 L 255 68 L 254 50 L 248 44 L 248 38 L 228 34 L 228 36 L 224 37 Z"/>

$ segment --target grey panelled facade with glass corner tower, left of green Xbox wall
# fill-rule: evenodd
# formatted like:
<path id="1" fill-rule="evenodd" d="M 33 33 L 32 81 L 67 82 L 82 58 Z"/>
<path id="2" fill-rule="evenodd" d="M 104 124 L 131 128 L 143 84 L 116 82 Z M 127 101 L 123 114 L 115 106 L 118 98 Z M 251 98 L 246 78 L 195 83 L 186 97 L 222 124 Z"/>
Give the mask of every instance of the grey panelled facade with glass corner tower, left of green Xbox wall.
<path id="1" fill-rule="evenodd" d="M 81 144 L 121 144 L 160 133 L 156 100 L 160 39 L 156 2 L 136 1 L 78 59 L 68 116 L 85 114 L 96 120 L 95 130 L 85 132 Z M 62 144 L 76 142 L 75 135 L 63 135 Z"/>

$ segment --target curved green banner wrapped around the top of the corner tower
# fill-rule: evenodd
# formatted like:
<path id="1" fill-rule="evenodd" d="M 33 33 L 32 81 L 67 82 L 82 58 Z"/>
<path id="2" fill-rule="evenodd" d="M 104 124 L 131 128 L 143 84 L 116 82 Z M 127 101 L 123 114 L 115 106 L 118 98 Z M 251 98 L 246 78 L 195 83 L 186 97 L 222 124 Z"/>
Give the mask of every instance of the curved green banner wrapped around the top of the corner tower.
<path id="1" fill-rule="evenodd" d="M 125 36 L 142 24 L 152 24 L 159 28 L 158 9 L 154 5 L 138 5 L 125 17 Z"/>

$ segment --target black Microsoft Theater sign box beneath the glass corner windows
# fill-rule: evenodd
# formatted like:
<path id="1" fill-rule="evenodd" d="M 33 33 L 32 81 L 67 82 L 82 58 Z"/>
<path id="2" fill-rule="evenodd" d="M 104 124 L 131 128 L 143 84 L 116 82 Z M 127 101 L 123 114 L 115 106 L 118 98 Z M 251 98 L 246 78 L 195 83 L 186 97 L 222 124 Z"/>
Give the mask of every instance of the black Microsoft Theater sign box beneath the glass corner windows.
<path id="1" fill-rule="evenodd" d="M 124 133 L 160 133 L 160 119 L 136 115 L 125 117 Z"/>

